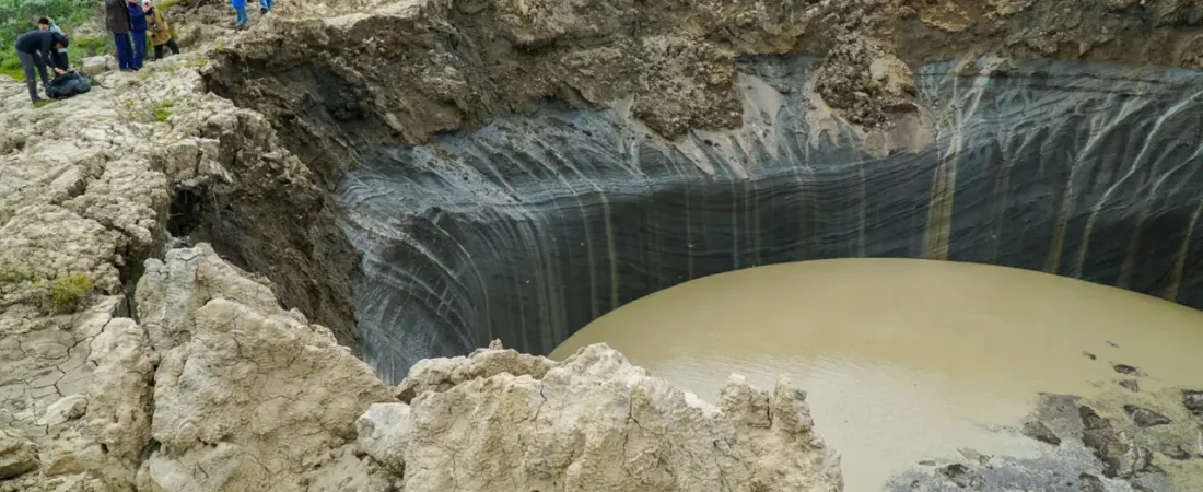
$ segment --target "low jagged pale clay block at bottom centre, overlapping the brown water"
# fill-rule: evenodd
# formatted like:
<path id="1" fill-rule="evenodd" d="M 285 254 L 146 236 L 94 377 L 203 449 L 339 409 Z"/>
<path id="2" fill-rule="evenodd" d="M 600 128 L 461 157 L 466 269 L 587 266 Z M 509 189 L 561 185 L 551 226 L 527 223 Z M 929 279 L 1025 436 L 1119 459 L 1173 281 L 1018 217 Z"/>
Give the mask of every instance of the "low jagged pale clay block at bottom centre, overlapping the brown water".
<path id="1" fill-rule="evenodd" d="M 497 356 L 415 366 L 409 379 Z M 788 381 L 768 392 L 733 377 L 716 408 L 605 345 L 552 364 L 541 378 L 504 372 L 415 392 L 408 415 L 393 413 L 410 432 L 404 490 L 842 490 L 838 457 Z"/>

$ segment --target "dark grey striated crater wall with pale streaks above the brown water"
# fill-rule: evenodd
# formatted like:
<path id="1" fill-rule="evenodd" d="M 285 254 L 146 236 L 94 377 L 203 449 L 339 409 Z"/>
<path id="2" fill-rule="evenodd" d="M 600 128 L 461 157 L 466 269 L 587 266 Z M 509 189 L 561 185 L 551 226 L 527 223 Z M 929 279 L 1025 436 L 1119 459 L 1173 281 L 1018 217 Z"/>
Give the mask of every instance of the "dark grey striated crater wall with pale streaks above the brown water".
<path id="1" fill-rule="evenodd" d="M 924 66 L 930 131 L 909 135 L 928 143 L 873 156 L 814 117 L 810 63 L 745 63 L 737 131 L 666 142 L 621 106 L 549 103 L 365 152 L 338 194 L 365 254 L 369 363 L 396 380 L 493 338 L 547 352 L 693 278 L 846 256 L 996 263 L 1203 307 L 1199 73 Z"/>

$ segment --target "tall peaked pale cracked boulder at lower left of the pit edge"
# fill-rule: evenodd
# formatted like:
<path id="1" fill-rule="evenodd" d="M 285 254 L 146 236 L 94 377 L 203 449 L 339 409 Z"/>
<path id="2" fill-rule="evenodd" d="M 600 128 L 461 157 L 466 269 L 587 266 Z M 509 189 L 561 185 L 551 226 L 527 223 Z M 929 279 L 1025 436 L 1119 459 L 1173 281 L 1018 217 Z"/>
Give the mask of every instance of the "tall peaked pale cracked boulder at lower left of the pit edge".
<path id="1" fill-rule="evenodd" d="M 332 473 L 314 469 L 354 440 L 355 419 L 392 399 L 327 328 L 278 308 L 209 247 L 170 251 L 147 271 L 140 308 L 162 361 L 150 428 L 160 447 L 142 466 L 142 488 L 313 490 L 315 475 Z M 153 298 L 160 292 L 179 297 Z M 168 307 L 174 315 L 156 315 Z"/>

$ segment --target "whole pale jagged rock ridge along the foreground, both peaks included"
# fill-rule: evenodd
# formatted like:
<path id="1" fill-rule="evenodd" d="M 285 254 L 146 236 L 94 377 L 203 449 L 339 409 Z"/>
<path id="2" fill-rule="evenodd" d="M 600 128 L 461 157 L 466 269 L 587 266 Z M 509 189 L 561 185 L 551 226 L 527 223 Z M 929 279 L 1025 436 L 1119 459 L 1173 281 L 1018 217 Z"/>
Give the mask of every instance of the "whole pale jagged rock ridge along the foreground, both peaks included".
<path id="1" fill-rule="evenodd" d="M 788 383 L 735 378 L 716 408 L 604 345 L 494 345 L 390 389 L 256 280 L 207 244 L 147 261 L 141 322 L 84 325 L 85 392 L 31 413 L 40 439 L 0 433 L 0 490 L 842 488 Z"/>

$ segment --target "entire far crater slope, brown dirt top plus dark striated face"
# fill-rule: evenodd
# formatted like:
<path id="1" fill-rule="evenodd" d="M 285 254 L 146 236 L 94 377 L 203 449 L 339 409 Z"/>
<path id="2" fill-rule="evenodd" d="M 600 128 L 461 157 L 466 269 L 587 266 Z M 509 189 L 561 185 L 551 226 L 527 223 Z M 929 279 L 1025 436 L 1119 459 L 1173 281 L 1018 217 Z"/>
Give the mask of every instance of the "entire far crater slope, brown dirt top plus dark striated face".
<path id="1" fill-rule="evenodd" d="M 328 237 L 363 271 L 244 263 L 282 285 L 342 274 L 338 302 L 386 379 L 491 338 L 546 352 L 656 290 L 807 259 L 990 262 L 1203 306 L 1195 73 L 982 59 L 912 76 L 899 60 L 1069 42 L 1080 51 L 1035 54 L 1137 60 L 1151 47 L 1104 49 L 1115 37 L 1088 28 L 1177 47 L 1193 7 L 1161 22 L 1101 2 L 1036 32 L 1031 6 L 959 28 L 905 4 L 403 2 L 282 19 L 219 53 L 206 83 L 273 120 L 338 196 L 343 236 Z M 989 42 L 958 34 L 986 20 Z M 920 35 L 949 45 L 891 54 Z M 776 58 L 796 52 L 826 53 L 823 67 Z M 220 211 L 205 207 L 200 229 Z"/>

